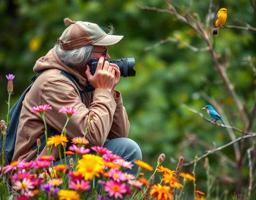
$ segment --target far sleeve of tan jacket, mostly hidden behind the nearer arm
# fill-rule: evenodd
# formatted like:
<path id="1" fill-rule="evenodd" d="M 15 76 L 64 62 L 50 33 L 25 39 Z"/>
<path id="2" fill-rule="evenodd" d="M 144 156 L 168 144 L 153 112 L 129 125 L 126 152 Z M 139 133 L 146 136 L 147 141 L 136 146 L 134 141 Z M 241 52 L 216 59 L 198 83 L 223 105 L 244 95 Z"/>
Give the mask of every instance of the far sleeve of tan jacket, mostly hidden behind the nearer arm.
<path id="1" fill-rule="evenodd" d="M 123 100 L 121 93 L 116 91 L 117 98 L 115 98 L 115 102 L 117 107 L 115 109 L 115 113 L 113 116 L 113 123 L 109 132 L 107 139 L 114 139 L 120 137 L 128 137 L 130 123 L 127 117 L 127 113 L 125 107 L 123 107 Z"/>

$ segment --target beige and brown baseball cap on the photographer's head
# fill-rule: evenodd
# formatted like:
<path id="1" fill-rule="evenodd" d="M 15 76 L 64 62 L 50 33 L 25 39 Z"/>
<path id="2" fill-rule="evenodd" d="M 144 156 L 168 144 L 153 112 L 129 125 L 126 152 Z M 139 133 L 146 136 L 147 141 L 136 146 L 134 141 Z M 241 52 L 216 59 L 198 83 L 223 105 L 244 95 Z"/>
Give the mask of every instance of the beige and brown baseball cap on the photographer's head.
<path id="1" fill-rule="evenodd" d="M 57 37 L 62 50 L 72 50 L 87 45 L 110 46 L 123 39 L 122 35 L 109 35 L 98 24 L 64 19 L 68 27 Z"/>

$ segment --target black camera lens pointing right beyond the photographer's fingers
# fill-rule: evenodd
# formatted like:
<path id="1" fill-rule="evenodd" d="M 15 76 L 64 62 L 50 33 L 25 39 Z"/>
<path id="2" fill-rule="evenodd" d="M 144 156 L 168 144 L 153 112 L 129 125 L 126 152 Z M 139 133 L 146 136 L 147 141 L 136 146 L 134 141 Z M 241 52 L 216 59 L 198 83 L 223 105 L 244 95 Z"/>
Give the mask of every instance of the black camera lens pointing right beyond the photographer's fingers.
<path id="1" fill-rule="evenodd" d="M 119 60 L 110 60 L 110 63 L 114 63 L 119 67 L 120 74 L 123 77 L 135 76 L 136 71 L 133 69 L 135 65 L 134 58 L 121 58 Z"/>

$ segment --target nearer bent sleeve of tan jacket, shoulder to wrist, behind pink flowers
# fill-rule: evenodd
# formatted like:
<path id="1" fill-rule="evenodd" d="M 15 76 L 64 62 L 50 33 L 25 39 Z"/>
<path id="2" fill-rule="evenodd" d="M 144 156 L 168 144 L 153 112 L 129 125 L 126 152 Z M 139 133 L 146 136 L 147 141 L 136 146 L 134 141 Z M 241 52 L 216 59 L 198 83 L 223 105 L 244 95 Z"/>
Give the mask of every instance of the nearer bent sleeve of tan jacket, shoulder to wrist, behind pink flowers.
<path id="1" fill-rule="evenodd" d="M 68 139 L 83 137 L 85 133 L 87 119 L 90 112 L 94 112 L 94 118 L 90 121 L 86 138 L 90 146 L 102 146 L 109 134 L 113 115 L 116 109 L 116 102 L 108 90 L 96 89 L 94 91 L 93 102 L 90 108 L 81 102 L 80 96 L 76 92 L 76 87 L 68 79 L 54 79 L 45 86 L 40 92 L 41 105 L 50 104 L 52 110 L 45 113 L 46 123 L 58 131 L 66 122 L 66 114 L 58 113 L 62 106 L 75 107 L 80 114 L 73 114 L 70 118 L 66 130 Z"/>

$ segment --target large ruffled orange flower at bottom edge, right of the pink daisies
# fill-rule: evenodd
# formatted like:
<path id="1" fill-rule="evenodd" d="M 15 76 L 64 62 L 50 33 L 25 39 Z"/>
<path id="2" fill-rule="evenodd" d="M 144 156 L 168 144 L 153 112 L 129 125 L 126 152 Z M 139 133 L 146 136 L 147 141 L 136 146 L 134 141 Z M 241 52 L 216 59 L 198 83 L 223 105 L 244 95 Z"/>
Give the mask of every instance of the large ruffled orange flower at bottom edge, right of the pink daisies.
<path id="1" fill-rule="evenodd" d="M 169 200 L 172 199 L 172 190 L 169 186 L 162 186 L 161 184 L 153 185 L 150 194 L 157 200 Z"/>

